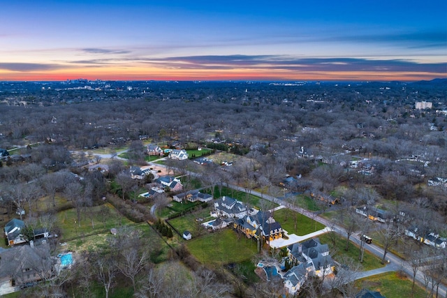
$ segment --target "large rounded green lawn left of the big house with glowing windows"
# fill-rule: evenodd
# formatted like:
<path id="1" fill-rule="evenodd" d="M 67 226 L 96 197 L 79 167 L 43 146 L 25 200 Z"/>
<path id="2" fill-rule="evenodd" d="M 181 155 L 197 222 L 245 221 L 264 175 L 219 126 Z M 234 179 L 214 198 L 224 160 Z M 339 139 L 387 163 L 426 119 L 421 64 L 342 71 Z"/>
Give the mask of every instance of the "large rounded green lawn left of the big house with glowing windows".
<path id="1" fill-rule="evenodd" d="M 256 241 L 241 236 L 230 229 L 207 234 L 205 237 L 191 239 L 186 247 L 199 262 L 221 266 L 251 260 L 257 253 Z"/>

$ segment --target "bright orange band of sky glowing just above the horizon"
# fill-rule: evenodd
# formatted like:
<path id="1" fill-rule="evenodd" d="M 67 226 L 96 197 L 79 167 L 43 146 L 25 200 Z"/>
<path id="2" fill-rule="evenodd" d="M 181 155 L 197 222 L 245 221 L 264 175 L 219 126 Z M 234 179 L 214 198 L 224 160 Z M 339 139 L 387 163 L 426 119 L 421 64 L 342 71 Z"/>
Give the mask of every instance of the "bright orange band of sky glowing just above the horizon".
<path id="1" fill-rule="evenodd" d="M 65 81 L 77 78 L 88 80 L 177 80 L 177 81 L 216 81 L 216 80 L 318 80 L 318 81 L 418 81 L 447 77 L 446 73 L 422 72 L 373 72 L 373 71 L 291 71 L 271 69 L 231 69 L 231 70 L 197 70 L 173 68 L 76 68 L 52 70 L 46 72 L 0 71 L 3 81 Z"/>

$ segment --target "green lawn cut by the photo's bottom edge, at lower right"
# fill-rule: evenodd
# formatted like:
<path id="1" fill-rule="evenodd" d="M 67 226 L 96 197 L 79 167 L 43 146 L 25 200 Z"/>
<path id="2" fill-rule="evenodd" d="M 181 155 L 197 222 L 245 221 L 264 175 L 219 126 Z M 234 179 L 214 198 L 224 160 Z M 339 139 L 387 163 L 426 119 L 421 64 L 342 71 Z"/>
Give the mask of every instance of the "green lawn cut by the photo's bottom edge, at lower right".
<path id="1" fill-rule="evenodd" d="M 397 272 L 387 272 L 356 281 L 356 286 L 373 291 L 380 291 L 386 298 L 426 297 L 427 293 L 416 283 L 414 295 L 411 295 L 411 278 L 399 276 Z"/>

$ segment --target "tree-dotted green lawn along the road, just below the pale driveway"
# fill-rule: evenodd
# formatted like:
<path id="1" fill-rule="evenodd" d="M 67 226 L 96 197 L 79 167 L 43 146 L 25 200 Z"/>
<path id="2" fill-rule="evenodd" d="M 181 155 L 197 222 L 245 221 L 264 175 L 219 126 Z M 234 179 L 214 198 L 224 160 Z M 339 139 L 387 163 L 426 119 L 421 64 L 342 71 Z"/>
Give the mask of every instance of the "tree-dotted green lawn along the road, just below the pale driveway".
<path id="1" fill-rule="evenodd" d="M 349 258 L 352 258 L 353 260 L 358 260 L 358 255 L 360 254 L 360 248 L 356 246 L 356 244 L 353 244 L 352 242 L 349 244 L 349 250 L 345 251 L 344 248 L 346 248 L 346 239 L 343 237 L 340 237 L 339 235 L 335 235 L 335 247 L 332 246 L 332 239 L 330 238 L 330 234 L 326 233 L 323 235 L 320 235 L 318 237 L 320 239 L 320 242 L 322 244 L 328 244 L 332 258 L 334 260 L 337 260 L 339 256 L 346 255 Z M 365 255 L 363 256 L 363 262 L 361 264 L 364 271 L 372 270 L 376 268 L 383 267 L 385 265 L 381 264 L 380 258 L 377 258 L 372 253 L 369 253 L 365 250 Z"/>

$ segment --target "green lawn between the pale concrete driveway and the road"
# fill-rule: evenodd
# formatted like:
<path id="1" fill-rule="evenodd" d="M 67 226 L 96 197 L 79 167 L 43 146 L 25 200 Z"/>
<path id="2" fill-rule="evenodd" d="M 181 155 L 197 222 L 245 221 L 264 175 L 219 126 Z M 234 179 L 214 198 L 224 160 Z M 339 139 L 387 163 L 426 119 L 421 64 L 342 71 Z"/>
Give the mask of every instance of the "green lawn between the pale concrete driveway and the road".
<path id="1" fill-rule="evenodd" d="M 274 211 L 273 217 L 288 234 L 302 236 L 325 228 L 323 224 L 314 221 L 312 218 L 287 208 Z M 296 229 L 295 218 L 297 218 Z"/>

